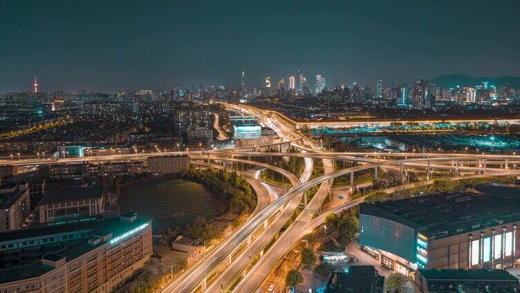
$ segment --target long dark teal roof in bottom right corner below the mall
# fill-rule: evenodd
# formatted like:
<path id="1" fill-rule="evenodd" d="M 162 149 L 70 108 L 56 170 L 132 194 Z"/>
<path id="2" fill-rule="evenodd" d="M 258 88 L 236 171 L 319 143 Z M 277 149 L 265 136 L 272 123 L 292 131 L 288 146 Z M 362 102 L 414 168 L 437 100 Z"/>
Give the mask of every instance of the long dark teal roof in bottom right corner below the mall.
<path id="1" fill-rule="evenodd" d="M 518 292 L 519 280 L 506 270 L 419 270 L 430 292 Z"/>

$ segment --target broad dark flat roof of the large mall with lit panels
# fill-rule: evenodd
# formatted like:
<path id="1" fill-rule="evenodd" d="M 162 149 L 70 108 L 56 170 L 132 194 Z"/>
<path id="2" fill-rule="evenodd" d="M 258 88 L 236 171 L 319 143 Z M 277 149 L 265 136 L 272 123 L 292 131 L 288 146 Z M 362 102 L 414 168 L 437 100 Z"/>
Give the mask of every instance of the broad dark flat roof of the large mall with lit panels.
<path id="1" fill-rule="evenodd" d="M 520 186 L 504 186 L 507 189 L 504 192 L 511 193 L 507 199 L 496 196 L 505 194 L 500 189 L 493 189 L 491 194 L 483 193 L 488 189 L 481 187 L 486 186 L 476 186 L 476 190 L 481 190 L 478 193 L 432 193 L 375 204 L 362 203 L 360 213 L 393 220 L 434 238 L 520 220 Z"/>

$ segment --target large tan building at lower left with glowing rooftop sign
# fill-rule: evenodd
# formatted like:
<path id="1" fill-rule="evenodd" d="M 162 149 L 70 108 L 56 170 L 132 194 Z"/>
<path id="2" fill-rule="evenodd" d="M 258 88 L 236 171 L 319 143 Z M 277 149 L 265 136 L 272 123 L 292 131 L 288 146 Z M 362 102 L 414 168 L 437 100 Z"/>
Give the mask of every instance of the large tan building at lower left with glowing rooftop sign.
<path id="1" fill-rule="evenodd" d="M 0 292 L 107 293 L 149 261 L 151 221 L 130 213 L 22 229 L 0 234 L 0 249 Z"/>

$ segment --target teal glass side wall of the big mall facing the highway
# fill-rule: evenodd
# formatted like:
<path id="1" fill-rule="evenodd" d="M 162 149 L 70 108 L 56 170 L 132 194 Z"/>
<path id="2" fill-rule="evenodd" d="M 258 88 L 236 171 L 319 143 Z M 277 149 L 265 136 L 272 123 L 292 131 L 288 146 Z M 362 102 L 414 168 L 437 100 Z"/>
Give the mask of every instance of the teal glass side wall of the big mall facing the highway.
<path id="1" fill-rule="evenodd" d="M 396 254 L 410 263 L 416 262 L 418 254 L 414 229 L 392 220 L 365 214 L 360 214 L 360 245 Z"/>

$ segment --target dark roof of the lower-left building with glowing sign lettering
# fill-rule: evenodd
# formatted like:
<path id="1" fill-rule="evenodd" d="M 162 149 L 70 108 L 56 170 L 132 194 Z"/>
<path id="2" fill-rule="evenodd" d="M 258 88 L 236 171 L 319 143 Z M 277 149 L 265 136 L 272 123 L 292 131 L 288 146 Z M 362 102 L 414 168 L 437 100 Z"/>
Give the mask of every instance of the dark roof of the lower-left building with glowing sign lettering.
<path id="1" fill-rule="evenodd" d="M 66 231 L 84 231 L 85 229 L 90 230 L 90 234 L 108 235 L 113 233 L 111 240 L 115 240 L 111 245 L 116 245 L 122 240 L 126 240 L 131 236 L 131 231 L 139 231 L 139 228 L 144 228 L 148 225 L 149 219 L 147 218 L 136 218 L 133 221 L 125 220 L 124 218 L 115 217 L 103 220 L 91 220 L 85 222 L 70 223 L 64 225 L 55 226 L 42 226 L 30 229 L 20 229 L 17 231 L 8 231 L 0 234 L 1 241 L 8 239 L 21 240 L 23 238 L 30 237 L 44 237 L 45 235 L 59 234 Z M 42 258 L 48 261 L 59 261 L 62 258 L 66 259 L 66 262 L 73 261 L 91 250 L 104 245 L 104 243 L 89 243 L 88 240 L 78 240 L 73 243 L 69 243 L 65 246 L 60 247 L 46 247 L 46 252 Z M 9 283 L 13 281 L 19 281 L 26 278 L 34 278 L 41 276 L 50 270 L 48 267 L 44 267 L 41 263 L 41 259 L 38 254 L 34 254 L 35 249 L 25 249 L 19 252 L 21 258 L 24 258 L 25 262 L 23 265 L 16 265 L 12 267 L 5 267 L 0 269 L 0 284 Z"/>

